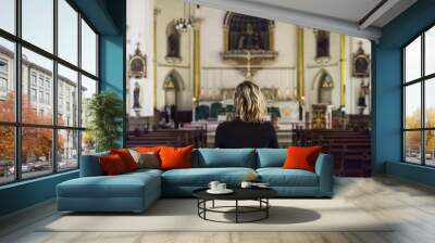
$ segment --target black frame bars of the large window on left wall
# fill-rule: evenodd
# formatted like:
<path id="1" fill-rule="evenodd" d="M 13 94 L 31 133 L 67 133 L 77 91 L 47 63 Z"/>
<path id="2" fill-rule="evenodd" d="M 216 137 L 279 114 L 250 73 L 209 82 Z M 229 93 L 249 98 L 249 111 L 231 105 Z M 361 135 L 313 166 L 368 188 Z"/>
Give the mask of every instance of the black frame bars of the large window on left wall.
<path id="1" fill-rule="evenodd" d="M 42 48 L 37 47 L 36 44 L 33 44 L 32 42 L 25 40 L 22 38 L 22 0 L 15 0 L 14 1 L 14 11 L 15 11 L 15 26 L 14 26 L 14 34 L 11 34 L 4 29 L 0 28 L 0 38 L 3 38 L 5 40 L 9 40 L 13 42 L 15 53 L 14 53 L 14 59 L 13 59 L 13 80 L 14 86 L 15 86 L 15 114 L 14 114 L 14 120 L 13 122 L 2 122 L 0 120 L 0 126 L 4 127 L 13 127 L 14 129 L 14 180 L 11 181 L 5 181 L 5 182 L 0 182 L 0 187 L 4 184 L 11 184 L 11 183 L 17 183 L 21 181 L 25 180 L 33 180 L 36 178 L 40 177 L 47 177 L 53 174 L 63 174 L 71 170 L 76 170 L 80 166 L 80 155 L 82 155 L 82 137 L 83 137 L 83 131 L 86 130 L 86 127 L 82 126 L 82 117 L 77 117 L 77 124 L 76 126 L 61 126 L 58 125 L 58 65 L 63 65 L 66 68 L 70 68 L 74 72 L 77 73 L 77 90 L 79 91 L 82 89 L 82 75 L 92 79 L 97 84 L 97 90 L 96 92 L 100 92 L 100 79 L 99 79 L 99 56 L 100 56 L 100 49 L 99 49 L 99 40 L 100 40 L 100 33 L 96 29 L 96 27 L 89 22 L 89 20 L 78 10 L 78 8 L 71 1 L 71 0 L 64 0 L 74 11 L 77 12 L 77 63 L 73 64 L 70 63 L 69 61 L 60 57 L 58 54 L 59 48 L 58 48 L 58 40 L 59 40 L 59 31 L 58 31 L 58 23 L 59 23 L 59 16 L 58 16 L 58 1 L 59 0 L 52 0 L 53 2 L 53 51 L 50 53 L 49 51 L 46 51 Z M 97 71 L 96 75 L 92 75 L 88 73 L 87 71 L 82 68 L 82 21 L 84 21 L 90 29 L 96 34 L 96 62 L 97 62 Z M 22 120 L 22 71 L 23 71 L 23 62 L 22 62 L 22 50 L 23 48 L 35 52 L 36 54 L 39 54 L 44 57 L 47 57 L 52 61 L 53 67 L 52 67 L 52 77 L 51 77 L 51 86 L 52 90 L 50 92 L 50 101 L 49 103 L 52 105 L 52 116 L 53 119 L 50 125 L 42 125 L 42 124 L 29 124 L 29 123 L 23 123 Z M 38 79 L 39 76 L 36 76 L 36 88 L 37 90 L 39 87 Z M 33 87 L 33 80 L 29 78 L 28 80 L 29 87 Z M 44 84 L 42 84 L 44 85 Z M 42 90 L 45 90 L 45 86 L 42 87 Z M 45 92 L 46 93 L 46 92 Z M 29 93 L 30 94 L 30 93 Z M 32 99 L 29 97 L 29 99 Z M 37 98 L 39 99 L 39 98 Z M 77 114 L 82 113 L 82 95 L 80 92 L 77 92 Z M 46 102 L 44 102 L 46 103 Z M 41 175 L 41 176 L 35 176 L 35 177 L 28 177 L 28 178 L 23 178 L 23 172 L 22 172 L 22 129 L 23 128 L 49 128 L 51 129 L 52 132 L 52 148 L 51 148 L 51 165 L 52 168 L 50 171 L 47 171 L 47 174 Z M 58 133 L 62 130 L 71 130 L 71 131 L 76 131 L 77 132 L 77 139 L 78 139 L 78 144 L 77 144 L 77 166 L 74 168 L 67 168 L 67 169 L 60 169 L 58 168 L 59 166 L 59 158 L 57 156 L 58 154 Z M 55 155 L 55 156 L 54 156 Z"/>

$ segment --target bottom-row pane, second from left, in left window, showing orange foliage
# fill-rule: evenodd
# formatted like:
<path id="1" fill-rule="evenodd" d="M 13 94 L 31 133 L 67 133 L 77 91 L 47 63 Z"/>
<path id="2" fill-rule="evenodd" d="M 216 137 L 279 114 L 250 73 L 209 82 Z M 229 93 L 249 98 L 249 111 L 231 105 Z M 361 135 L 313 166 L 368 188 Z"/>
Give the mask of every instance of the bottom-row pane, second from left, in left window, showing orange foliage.
<path id="1" fill-rule="evenodd" d="M 52 138 L 52 129 L 34 127 L 22 129 L 23 178 L 38 177 L 53 171 Z"/>

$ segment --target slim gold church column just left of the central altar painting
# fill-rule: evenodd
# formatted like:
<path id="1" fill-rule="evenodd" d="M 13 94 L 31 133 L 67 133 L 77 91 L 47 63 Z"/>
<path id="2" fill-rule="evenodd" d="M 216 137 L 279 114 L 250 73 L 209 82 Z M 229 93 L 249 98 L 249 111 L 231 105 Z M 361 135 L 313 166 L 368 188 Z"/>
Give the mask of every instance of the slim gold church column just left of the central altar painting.
<path id="1" fill-rule="evenodd" d="M 200 20 L 195 20 L 194 27 L 194 101 L 199 102 L 201 95 L 201 35 Z"/>

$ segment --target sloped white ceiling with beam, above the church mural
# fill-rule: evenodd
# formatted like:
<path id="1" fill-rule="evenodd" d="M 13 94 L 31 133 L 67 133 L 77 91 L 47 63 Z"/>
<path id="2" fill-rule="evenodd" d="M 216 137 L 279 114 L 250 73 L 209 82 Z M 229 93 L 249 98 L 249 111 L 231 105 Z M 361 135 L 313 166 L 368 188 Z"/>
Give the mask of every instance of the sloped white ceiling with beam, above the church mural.
<path id="1" fill-rule="evenodd" d="M 381 28 L 417 0 L 186 0 L 254 16 L 377 40 Z"/>

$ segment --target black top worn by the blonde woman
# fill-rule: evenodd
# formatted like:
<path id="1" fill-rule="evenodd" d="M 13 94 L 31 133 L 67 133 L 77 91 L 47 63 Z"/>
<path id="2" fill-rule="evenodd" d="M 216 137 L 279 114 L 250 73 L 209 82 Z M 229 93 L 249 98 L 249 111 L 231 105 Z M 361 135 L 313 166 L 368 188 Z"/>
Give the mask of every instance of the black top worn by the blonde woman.
<path id="1" fill-rule="evenodd" d="M 240 119 L 225 122 L 217 126 L 215 148 L 278 148 L 275 128 L 271 123 L 245 123 Z"/>

